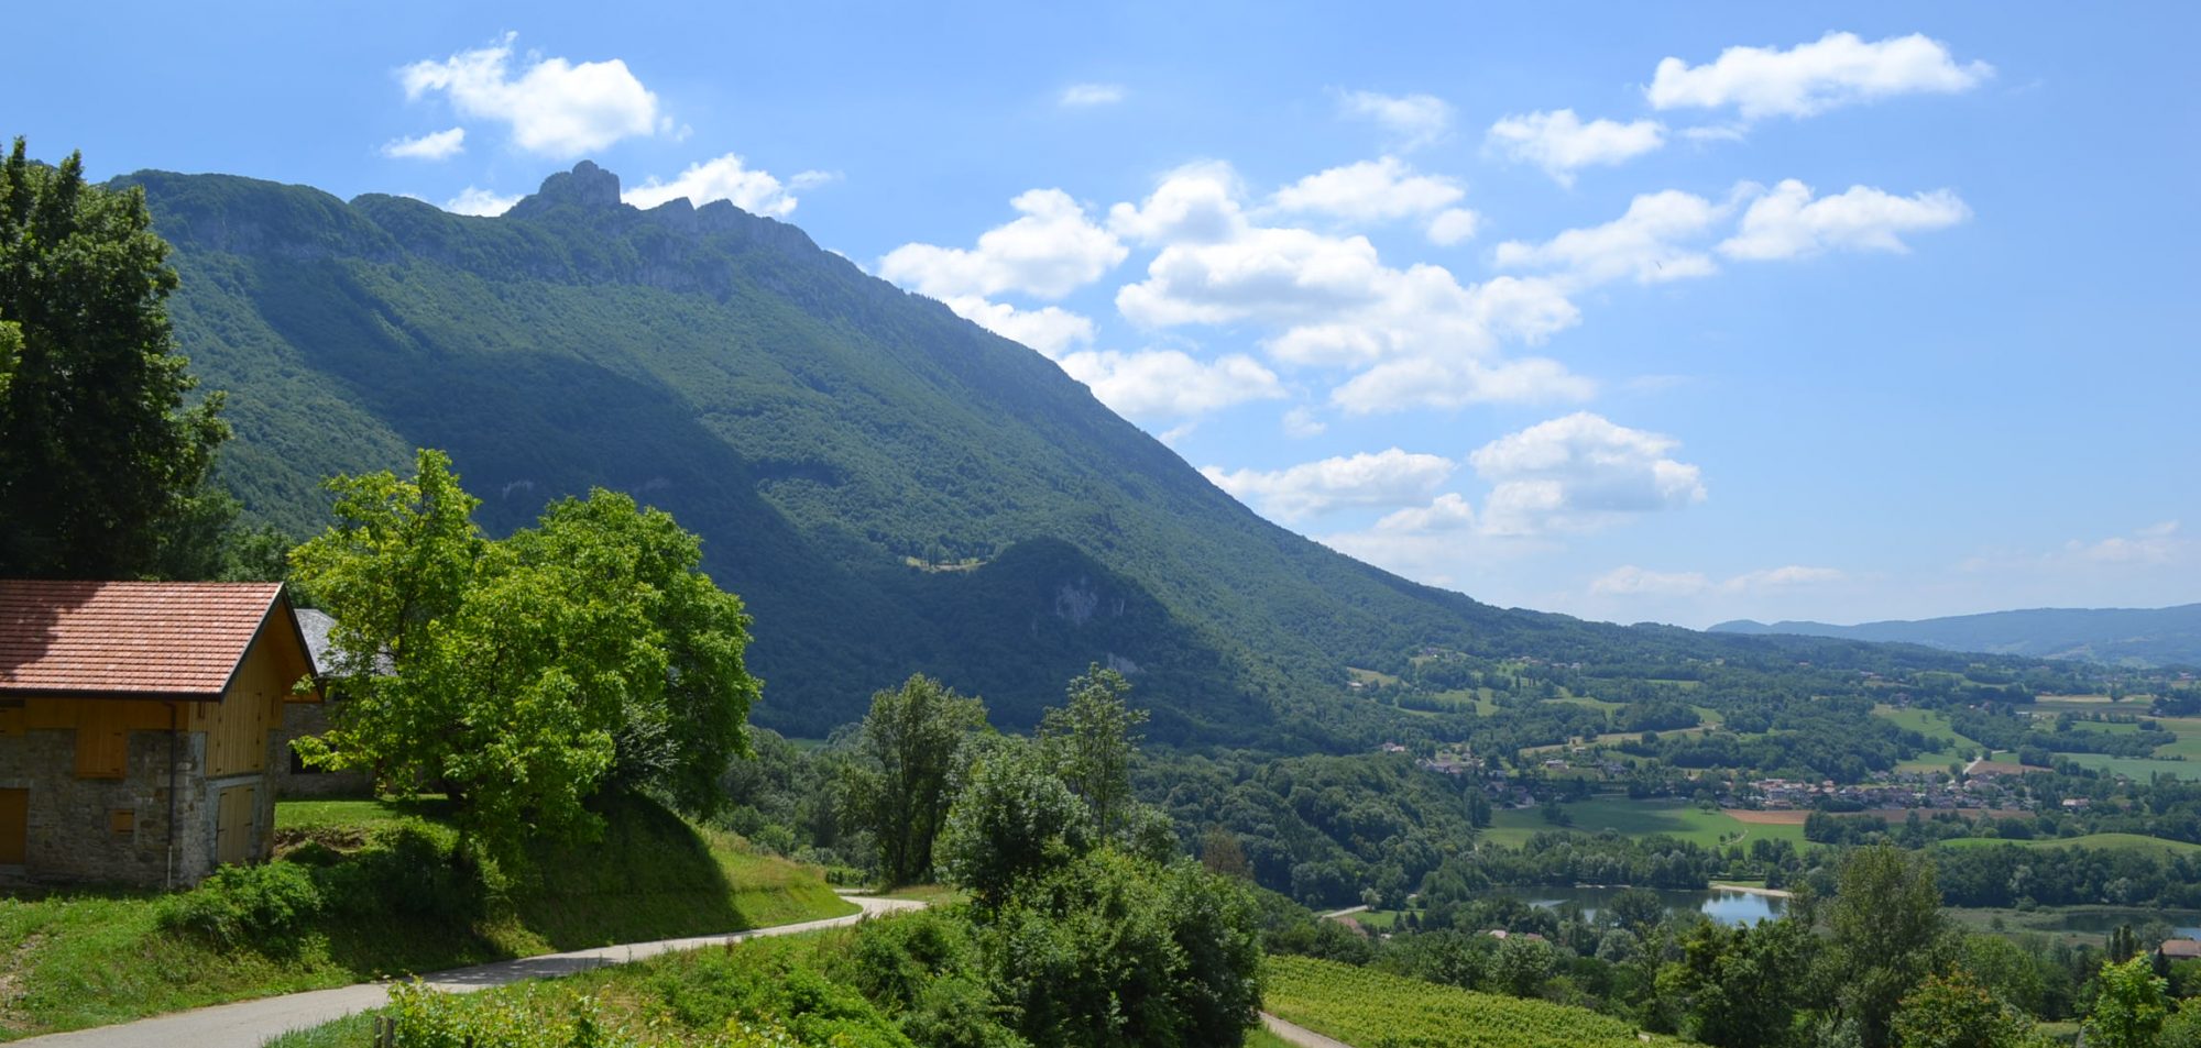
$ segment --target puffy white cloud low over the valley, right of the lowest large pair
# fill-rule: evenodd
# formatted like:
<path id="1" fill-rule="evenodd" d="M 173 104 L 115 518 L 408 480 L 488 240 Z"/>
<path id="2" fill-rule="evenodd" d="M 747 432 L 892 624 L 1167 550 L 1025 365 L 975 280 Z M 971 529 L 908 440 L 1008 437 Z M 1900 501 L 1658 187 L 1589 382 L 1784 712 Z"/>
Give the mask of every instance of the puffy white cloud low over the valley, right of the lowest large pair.
<path id="1" fill-rule="evenodd" d="M 1492 482 L 1483 531 L 1543 535 L 1704 502 L 1704 478 L 1668 456 L 1671 436 L 1576 412 L 1479 447 L 1468 462 Z"/>

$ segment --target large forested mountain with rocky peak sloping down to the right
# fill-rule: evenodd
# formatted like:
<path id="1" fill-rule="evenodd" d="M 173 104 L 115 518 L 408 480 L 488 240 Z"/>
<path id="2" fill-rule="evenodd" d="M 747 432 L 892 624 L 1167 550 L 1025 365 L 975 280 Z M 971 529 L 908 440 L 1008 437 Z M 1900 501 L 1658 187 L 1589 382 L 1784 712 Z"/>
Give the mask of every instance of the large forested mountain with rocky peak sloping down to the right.
<path id="1" fill-rule="evenodd" d="M 1156 740 L 1244 742 L 1347 700 L 1345 667 L 1424 647 L 1778 647 L 1497 610 L 1332 553 L 1045 357 L 790 225 L 634 209 L 594 163 L 500 218 L 222 174 L 119 183 L 176 249 L 176 337 L 229 392 L 222 478 L 253 517 L 317 533 L 326 476 L 403 471 L 414 447 L 453 456 L 493 533 L 629 491 L 748 601 L 755 716 L 788 733 L 845 724 L 911 672 L 1030 724 L 1114 665 Z"/>

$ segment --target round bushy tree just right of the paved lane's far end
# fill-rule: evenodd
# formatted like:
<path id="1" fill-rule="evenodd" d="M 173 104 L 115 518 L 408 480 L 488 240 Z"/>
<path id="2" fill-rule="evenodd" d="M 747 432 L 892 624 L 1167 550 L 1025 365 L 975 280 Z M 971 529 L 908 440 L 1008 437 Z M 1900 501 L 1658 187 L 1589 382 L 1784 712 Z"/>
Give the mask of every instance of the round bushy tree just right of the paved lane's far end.
<path id="1" fill-rule="evenodd" d="M 1092 815 L 1037 746 L 997 740 L 971 762 L 935 845 L 940 872 L 999 905 L 1023 878 L 1094 845 Z"/>

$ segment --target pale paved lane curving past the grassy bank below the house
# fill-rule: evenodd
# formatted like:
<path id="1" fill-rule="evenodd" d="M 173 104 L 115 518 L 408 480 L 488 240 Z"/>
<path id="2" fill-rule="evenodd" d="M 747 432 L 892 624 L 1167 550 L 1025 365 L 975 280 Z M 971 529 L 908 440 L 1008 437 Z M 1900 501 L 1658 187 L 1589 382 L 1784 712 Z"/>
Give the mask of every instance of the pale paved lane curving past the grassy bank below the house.
<path id="1" fill-rule="evenodd" d="M 861 905 L 863 911 L 825 920 L 803 920 L 799 925 L 775 925 L 755 931 L 737 931 L 731 936 L 665 938 L 656 942 L 632 942 L 625 947 L 577 949 L 572 953 L 548 953 L 541 958 L 500 960 L 495 964 L 478 964 L 471 969 L 438 971 L 431 975 L 423 975 L 423 980 L 429 986 L 436 986 L 438 991 L 471 993 L 489 986 L 504 986 L 508 982 L 519 982 L 519 980 L 572 975 L 577 971 L 601 969 L 605 964 L 625 964 L 629 960 L 654 958 L 658 953 L 742 942 L 744 938 L 792 936 L 799 931 L 843 927 L 843 925 L 854 925 L 856 920 L 863 920 L 872 914 L 891 914 L 896 909 L 924 907 L 924 903 L 916 903 L 909 898 L 869 898 L 869 896 L 845 896 L 845 898 L 850 903 Z M 383 982 L 368 982 L 359 986 L 339 986 L 332 991 L 286 993 L 282 997 L 260 997 L 251 1002 L 216 1004 L 211 1008 L 156 1015 L 152 1019 L 125 1022 L 119 1026 L 99 1026 L 92 1030 L 31 1037 L 26 1041 L 15 1041 L 15 1044 L 35 1048 L 141 1048 L 141 1046 L 249 1048 L 291 1030 L 319 1026 L 324 1022 L 341 1019 L 352 1013 L 381 1008 L 383 1004 L 390 1004 L 390 986 Z"/>

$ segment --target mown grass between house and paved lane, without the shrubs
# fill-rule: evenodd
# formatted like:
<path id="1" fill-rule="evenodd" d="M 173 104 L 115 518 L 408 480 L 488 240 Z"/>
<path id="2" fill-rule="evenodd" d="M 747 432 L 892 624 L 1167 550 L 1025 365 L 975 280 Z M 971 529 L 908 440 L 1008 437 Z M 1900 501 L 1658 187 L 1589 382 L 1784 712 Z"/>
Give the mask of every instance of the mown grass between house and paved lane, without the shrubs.
<path id="1" fill-rule="evenodd" d="M 277 826 L 332 843 L 401 826 L 449 841 L 431 815 L 376 801 L 286 801 Z M 854 911 L 817 870 L 751 854 L 663 810 L 625 812 L 601 845 L 546 850 L 537 870 L 473 927 L 332 920 L 297 942 L 238 951 L 163 931 L 154 894 L 0 898 L 0 1041 L 407 971 Z"/>

